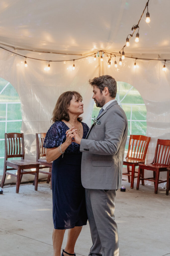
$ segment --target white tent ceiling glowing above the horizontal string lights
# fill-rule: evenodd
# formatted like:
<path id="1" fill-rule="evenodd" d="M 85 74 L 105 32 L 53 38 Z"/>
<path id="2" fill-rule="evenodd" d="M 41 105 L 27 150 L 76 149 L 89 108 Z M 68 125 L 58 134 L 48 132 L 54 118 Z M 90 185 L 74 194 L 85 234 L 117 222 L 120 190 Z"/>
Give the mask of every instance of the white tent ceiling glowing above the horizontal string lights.
<path id="1" fill-rule="evenodd" d="M 83 54 L 119 52 L 132 33 L 147 0 L 2 0 L 0 42 L 38 51 Z M 170 54 L 169 0 L 150 0 L 151 22 L 139 23 L 139 43 L 125 53 Z"/>

